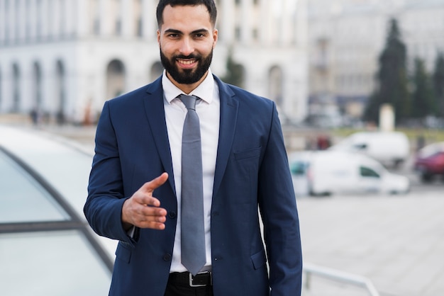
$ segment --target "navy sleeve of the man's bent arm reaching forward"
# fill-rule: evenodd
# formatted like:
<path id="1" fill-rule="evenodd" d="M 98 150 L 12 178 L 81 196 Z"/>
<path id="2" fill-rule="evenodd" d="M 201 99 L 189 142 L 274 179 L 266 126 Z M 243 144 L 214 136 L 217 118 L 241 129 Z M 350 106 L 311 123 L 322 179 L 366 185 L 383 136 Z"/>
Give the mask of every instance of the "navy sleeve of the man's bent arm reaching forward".
<path id="1" fill-rule="evenodd" d="M 128 197 L 123 196 L 121 163 L 110 113 L 109 102 L 106 102 L 96 130 L 84 214 L 97 234 L 133 244 L 121 222 L 123 203 Z"/>

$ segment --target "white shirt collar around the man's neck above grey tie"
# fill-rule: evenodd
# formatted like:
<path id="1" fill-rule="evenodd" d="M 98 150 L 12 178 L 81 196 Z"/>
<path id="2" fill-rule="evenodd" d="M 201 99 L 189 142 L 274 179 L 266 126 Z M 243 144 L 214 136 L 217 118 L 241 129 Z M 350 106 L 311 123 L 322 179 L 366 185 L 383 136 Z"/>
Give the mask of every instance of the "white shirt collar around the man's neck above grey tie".
<path id="1" fill-rule="evenodd" d="M 162 75 L 162 88 L 163 95 L 168 103 L 171 103 L 174 98 L 177 98 L 180 94 L 184 93 L 177 86 L 175 86 L 170 79 L 167 77 L 167 72 L 163 70 Z M 199 86 L 196 87 L 189 95 L 198 96 L 206 103 L 211 103 L 213 101 L 213 91 L 214 91 L 214 77 L 211 73 L 211 69 L 208 69 L 208 74 L 206 75 L 204 81 L 202 81 Z"/>

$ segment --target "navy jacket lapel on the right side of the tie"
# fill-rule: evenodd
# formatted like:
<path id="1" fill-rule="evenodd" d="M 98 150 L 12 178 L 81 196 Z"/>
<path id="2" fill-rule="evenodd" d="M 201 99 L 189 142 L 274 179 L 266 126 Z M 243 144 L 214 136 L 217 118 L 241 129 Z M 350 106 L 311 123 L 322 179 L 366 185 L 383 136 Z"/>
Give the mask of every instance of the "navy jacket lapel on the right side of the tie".
<path id="1" fill-rule="evenodd" d="M 235 126 L 238 118 L 238 100 L 231 89 L 223 84 L 216 76 L 221 98 L 221 119 L 219 127 L 219 142 L 217 149 L 216 171 L 214 173 L 213 196 L 217 193 L 223 173 L 225 172 L 228 157 L 231 153 Z"/>

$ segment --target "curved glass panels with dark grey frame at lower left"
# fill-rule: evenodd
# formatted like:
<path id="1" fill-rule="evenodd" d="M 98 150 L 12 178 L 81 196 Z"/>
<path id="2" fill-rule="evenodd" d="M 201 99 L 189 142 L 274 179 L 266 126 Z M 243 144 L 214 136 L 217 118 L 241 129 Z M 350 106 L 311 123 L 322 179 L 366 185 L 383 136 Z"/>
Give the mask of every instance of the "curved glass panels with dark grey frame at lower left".
<path id="1" fill-rule="evenodd" d="M 0 295 L 108 293 L 112 261 L 87 223 L 1 145 L 0 188 Z"/>

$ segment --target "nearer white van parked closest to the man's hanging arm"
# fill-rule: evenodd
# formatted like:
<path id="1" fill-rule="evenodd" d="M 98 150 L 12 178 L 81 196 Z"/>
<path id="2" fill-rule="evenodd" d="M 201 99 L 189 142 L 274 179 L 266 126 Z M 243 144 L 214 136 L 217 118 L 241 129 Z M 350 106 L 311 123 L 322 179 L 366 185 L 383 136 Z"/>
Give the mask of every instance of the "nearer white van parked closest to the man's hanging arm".
<path id="1" fill-rule="evenodd" d="M 289 164 L 296 195 L 403 194 L 410 189 L 409 178 L 355 152 L 295 152 Z"/>

